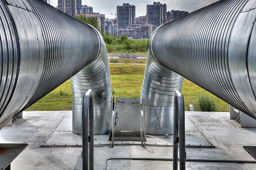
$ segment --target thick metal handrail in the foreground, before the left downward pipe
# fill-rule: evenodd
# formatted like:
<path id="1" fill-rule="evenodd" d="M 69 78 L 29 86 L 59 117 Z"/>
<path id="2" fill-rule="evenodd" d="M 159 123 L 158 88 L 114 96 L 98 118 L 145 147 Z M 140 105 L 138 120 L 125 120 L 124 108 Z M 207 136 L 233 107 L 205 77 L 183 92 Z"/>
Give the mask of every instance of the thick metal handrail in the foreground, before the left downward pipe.
<path id="1" fill-rule="evenodd" d="M 93 92 L 87 90 L 83 98 L 82 106 L 82 169 L 94 169 L 94 101 Z M 89 132 L 88 132 L 89 131 Z M 89 143 L 89 154 L 88 154 Z M 89 159 L 88 159 L 89 156 Z"/>

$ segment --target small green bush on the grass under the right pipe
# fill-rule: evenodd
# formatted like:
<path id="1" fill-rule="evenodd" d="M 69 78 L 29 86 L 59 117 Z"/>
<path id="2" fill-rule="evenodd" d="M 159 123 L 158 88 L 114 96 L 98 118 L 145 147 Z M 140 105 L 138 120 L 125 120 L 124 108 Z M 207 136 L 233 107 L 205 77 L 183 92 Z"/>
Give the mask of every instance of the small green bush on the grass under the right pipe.
<path id="1" fill-rule="evenodd" d="M 216 112 L 217 107 L 213 97 L 209 97 L 208 94 L 201 94 L 198 97 L 198 107 L 202 112 Z"/>

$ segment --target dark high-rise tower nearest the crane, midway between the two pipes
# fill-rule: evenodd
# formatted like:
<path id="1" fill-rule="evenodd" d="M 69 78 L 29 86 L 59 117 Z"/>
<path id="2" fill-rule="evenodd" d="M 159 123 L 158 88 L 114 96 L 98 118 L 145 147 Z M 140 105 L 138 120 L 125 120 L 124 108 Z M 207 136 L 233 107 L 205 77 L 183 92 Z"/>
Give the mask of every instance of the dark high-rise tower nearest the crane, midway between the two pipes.
<path id="1" fill-rule="evenodd" d="M 123 3 L 116 7 L 118 29 L 131 28 L 135 23 L 135 5 Z"/>

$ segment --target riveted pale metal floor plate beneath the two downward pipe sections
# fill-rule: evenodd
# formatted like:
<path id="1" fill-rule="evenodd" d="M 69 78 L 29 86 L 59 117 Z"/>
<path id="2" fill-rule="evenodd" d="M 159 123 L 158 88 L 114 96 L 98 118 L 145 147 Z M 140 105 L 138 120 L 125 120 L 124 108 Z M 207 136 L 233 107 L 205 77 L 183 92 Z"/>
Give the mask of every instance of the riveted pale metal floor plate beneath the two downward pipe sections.
<path id="1" fill-rule="evenodd" d="M 187 147 L 210 147 L 214 148 L 214 145 L 210 143 L 198 126 L 193 122 L 190 117 L 185 118 L 185 136 Z M 61 139 L 61 140 L 60 140 Z M 169 139 L 165 139 L 164 135 L 146 135 L 145 145 L 151 146 L 172 146 L 172 135 L 169 135 Z M 110 145 L 108 135 L 94 135 L 94 144 L 97 146 Z M 115 145 L 140 145 L 141 142 L 136 141 L 115 141 Z M 72 115 L 66 117 L 60 117 L 59 123 L 55 126 L 49 135 L 45 139 L 44 143 L 40 147 L 81 147 L 82 135 L 72 133 Z"/>

